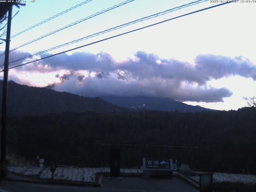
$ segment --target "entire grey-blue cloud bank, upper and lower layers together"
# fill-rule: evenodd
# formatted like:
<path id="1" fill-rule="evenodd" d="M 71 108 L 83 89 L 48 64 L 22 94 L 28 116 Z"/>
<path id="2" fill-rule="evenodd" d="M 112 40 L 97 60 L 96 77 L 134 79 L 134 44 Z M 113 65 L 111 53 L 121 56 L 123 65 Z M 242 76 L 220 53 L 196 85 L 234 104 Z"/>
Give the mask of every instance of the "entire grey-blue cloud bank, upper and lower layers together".
<path id="1" fill-rule="evenodd" d="M 49 55 L 43 54 L 41 57 Z M 143 51 L 136 52 L 134 58 L 122 62 L 117 62 L 104 52 L 60 54 L 28 64 L 22 70 L 66 70 L 66 74 L 56 74 L 61 83 L 56 84 L 54 89 L 83 96 L 146 95 L 196 102 L 223 102 L 223 98 L 232 95 L 228 88 L 207 86 L 207 82 L 212 79 L 238 75 L 256 80 L 256 66 L 242 56 L 231 58 L 201 54 L 194 63 L 189 63 L 159 58 L 156 54 Z M 87 71 L 88 75 L 81 71 Z"/>

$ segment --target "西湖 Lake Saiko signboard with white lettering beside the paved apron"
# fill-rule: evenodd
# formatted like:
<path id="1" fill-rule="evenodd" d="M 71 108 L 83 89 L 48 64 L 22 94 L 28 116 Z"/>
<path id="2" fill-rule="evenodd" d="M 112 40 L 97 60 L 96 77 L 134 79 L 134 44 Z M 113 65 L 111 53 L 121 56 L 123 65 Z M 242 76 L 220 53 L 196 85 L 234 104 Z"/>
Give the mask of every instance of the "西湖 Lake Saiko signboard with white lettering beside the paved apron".
<path id="1" fill-rule="evenodd" d="M 166 170 L 172 171 L 172 159 L 146 159 L 143 158 L 143 170 Z"/>

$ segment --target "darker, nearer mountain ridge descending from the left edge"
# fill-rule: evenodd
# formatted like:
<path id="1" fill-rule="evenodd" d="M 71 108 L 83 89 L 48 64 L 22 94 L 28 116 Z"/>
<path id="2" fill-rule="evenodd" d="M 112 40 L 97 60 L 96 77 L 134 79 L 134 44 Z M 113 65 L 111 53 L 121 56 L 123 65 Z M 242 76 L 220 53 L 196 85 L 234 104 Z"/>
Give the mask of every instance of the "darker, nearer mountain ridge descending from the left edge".
<path id="1" fill-rule="evenodd" d="M 0 80 L 0 87 L 3 81 Z M 42 115 L 60 112 L 120 112 L 126 109 L 115 106 L 99 97 L 84 97 L 48 88 L 32 87 L 8 81 L 7 114 L 11 116 Z M 0 89 L 2 101 L 2 89 Z M 0 102 L 2 108 L 2 102 Z M 2 112 L 1 112 L 2 114 Z"/>

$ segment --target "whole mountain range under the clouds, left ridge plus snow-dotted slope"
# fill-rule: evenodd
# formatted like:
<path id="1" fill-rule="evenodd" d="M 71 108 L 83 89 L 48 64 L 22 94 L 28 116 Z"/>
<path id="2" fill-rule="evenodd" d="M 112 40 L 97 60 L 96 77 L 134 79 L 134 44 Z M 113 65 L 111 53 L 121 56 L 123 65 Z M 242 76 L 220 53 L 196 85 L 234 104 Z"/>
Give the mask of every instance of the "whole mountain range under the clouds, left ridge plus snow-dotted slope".
<path id="1" fill-rule="evenodd" d="M 0 80 L 0 86 L 3 81 Z M 0 90 L 2 100 L 2 89 Z M 32 87 L 8 81 L 7 114 L 12 116 L 42 115 L 60 112 L 120 112 L 125 110 L 160 110 L 179 112 L 217 111 L 192 106 L 171 98 L 148 96 L 84 97 L 69 92 L 58 92 L 48 86 Z M 2 107 L 2 102 L 0 102 Z M 1 112 L 0 112 L 1 114 Z"/>

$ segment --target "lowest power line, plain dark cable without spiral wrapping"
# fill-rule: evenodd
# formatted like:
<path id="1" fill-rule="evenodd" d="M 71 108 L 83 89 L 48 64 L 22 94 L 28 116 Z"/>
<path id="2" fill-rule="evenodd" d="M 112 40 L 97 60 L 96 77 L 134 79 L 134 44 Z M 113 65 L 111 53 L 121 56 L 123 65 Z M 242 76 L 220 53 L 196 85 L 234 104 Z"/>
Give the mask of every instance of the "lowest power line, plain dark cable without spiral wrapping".
<path id="1" fill-rule="evenodd" d="M 118 37 L 118 36 L 122 36 L 122 35 L 124 35 L 124 34 L 128 34 L 128 33 L 131 33 L 131 32 L 138 31 L 138 30 L 142 30 L 142 29 L 145 29 L 145 28 L 154 26 L 154 25 L 158 25 L 158 24 L 161 24 L 161 23 L 170 21 L 170 20 L 174 20 L 174 19 L 177 19 L 177 18 L 180 18 L 180 17 L 183 17 L 183 16 L 187 16 L 187 15 L 190 15 L 190 14 L 194 14 L 194 13 L 197 13 L 197 12 L 201 12 L 201 11 L 204 11 L 204 10 L 208 10 L 208 9 L 211 9 L 211 8 L 214 8 L 214 7 L 222 6 L 222 5 L 228 4 L 228 3 L 232 3 L 232 1 L 230 1 L 230 2 L 225 2 L 225 3 L 222 3 L 222 4 L 218 4 L 218 5 L 214 5 L 214 6 L 210 6 L 210 7 L 207 7 L 207 8 L 200 9 L 200 10 L 196 10 L 196 11 L 193 11 L 193 12 L 190 12 L 190 13 L 186 13 L 186 14 L 183 14 L 183 15 L 180 15 L 180 16 L 176 16 L 176 17 L 170 18 L 170 19 L 168 19 L 168 20 L 164 20 L 164 21 L 157 22 L 157 23 L 154 23 L 154 24 L 151 24 L 151 25 L 148 25 L 148 26 L 144 26 L 144 27 L 141 27 L 141 28 L 137 28 L 137 29 L 135 29 L 135 30 L 131 30 L 131 31 L 128 31 L 128 32 L 124 32 L 124 33 L 121 33 L 121 34 L 118 34 L 118 35 L 114 35 L 114 36 L 111 36 L 111 37 L 108 37 L 108 38 L 105 38 L 105 39 L 102 39 L 102 40 L 98 40 L 98 41 L 95 41 L 95 42 L 92 42 L 92 43 L 89 43 L 89 44 L 86 44 L 86 45 L 82 45 L 82 46 L 79 46 L 79 47 L 76 47 L 76 48 L 72 48 L 72 49 L 69 49 L 69 50 L 66 50 L 66 51 L 62 51 L 62 52 L 59 52 L 59 53 L 56 53 L 56 54 L 53 54 L 53 55 L 50 55 L 50 56 L 46 56 L 46 57 L 44 57 L 44 58 L 40 58 L 40 59 L 37 59 L 37 60 L 34 60 L 34 61 L 30 61 L 30 62 L 27 62 L 27 63 L 24 63 L 24 64 L 20 64 L 20 65 L 14 66 L 14 67 L 10 67 L 10 68 L 8 68 L 8 69 L 13 69 L 13 68 L 16 68 L 16 67 L 20 67 L 20 66 L 23 66 L 23 65 L 26 65 L 26 64 L 30 64 L 30 63 L 33 63 L 33 62 L 36 62 L 36 61 L 40 61 L 40 60 L 43 60 L 43 59 L 46 59 L 46 58 L 50 58 L 50 57 L 53 57 L 53 56 L 56 56 L 56 55 L 59 55 L 59 54 L 65 53 L 65 52 L 69 52 L 69 51 L 76 50 L 76 49 L 79 49 L 79 48 L 82 48 L 82 47 L 85 47 L 85 46 L 89 46 L 89 45 L 92 45 L 92 44 L 96 44 L 96 43 L 98 43 L 98 42 L 102 42 L 102 41 L 105 41 L 105 40 L 109 40 L 109 39 L 112 39 L 112 38 L 115 38 L 115 37 Z M 0 72 L 3 72 L 3 70 L 0 71 Z"/>

